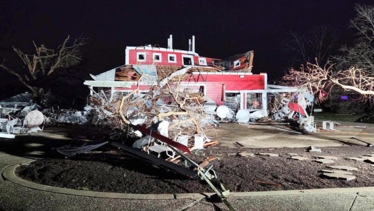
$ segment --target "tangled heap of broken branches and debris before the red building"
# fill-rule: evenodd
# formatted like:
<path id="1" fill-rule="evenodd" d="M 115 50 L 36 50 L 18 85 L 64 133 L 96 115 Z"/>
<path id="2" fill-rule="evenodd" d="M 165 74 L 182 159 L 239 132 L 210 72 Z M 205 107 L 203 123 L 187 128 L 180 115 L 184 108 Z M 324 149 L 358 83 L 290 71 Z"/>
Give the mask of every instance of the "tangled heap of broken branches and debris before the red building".
<path id="1" fill-rule="evenodd" d="M 186 80 L 186 72 L 175 71 L 165 74 L 162 80 L 153 79 L 152 72 L 143 71 L 137 81 L 137 88 L 125 96 L 117 95 L 107 97 L 104 92 L 94 92 L 91 96 L 91 106 L 95 109 L 97 117 L 103 125 L 110 126 L 126 135 L 127 140 L 139 139 L 133 146 L 144 151 L 160 152 L 158 145 L 162 142 L 150 135 L 144 136 L 133 126 L 146 126 L 152 131 L 172 139 L 184 146 L 202 148 L 203 144 L 210 142 L 205 131 L 214 132 L 218 122 L 214 116 L 204 112 L 204 95 L 201 92 L 182 88 L 179 83 Z M 150 84 L 149 90 L 139 90 L 140 81 Z M 129 137 L 130 136 L 130 137 Z"/>

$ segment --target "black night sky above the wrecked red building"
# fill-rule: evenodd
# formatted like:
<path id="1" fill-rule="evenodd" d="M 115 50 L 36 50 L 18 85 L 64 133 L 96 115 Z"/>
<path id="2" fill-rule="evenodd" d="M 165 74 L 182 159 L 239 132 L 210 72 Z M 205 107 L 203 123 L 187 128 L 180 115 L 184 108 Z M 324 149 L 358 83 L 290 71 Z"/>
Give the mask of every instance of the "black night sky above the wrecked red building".
<path id="1" fill-rule="evenodd" d="M 352 39 L 349 19 L 354 6 L 373 0 L 230 0 L 230 1 L 41 1 L 1 2 L 0 59 L 15 67 L 12 45 L 33 53 L 32 41 L 55 48 L 70 34 L 84 33 L 90 45 L 77 75 L 89 79 L 124 64 L 126 46 L 158 44 L 166 47 L 173 35 L 174 49 L 187 49 L 188 38 L 196 36 L 196 52 L 224 58 L 255 50 L 254 72 L 280 76 L 287 67 L 282 44 L 290 31 L 303 32 L 326 25 Z M 342 40 L 342 43 L 348 42 Z M 13 63 L 12 63 L 13 62 Z M 19 61 L 18 61 L 19 62 Z M 0 72 L 0 92 L 19 93 L 23 87 L 8 73 Z M 4 90 L 5 85 L 8 86 Z M 17 90 L 19 89 L 19 90 Z M 16 90 L 16 91 L 15 91 Z"/>

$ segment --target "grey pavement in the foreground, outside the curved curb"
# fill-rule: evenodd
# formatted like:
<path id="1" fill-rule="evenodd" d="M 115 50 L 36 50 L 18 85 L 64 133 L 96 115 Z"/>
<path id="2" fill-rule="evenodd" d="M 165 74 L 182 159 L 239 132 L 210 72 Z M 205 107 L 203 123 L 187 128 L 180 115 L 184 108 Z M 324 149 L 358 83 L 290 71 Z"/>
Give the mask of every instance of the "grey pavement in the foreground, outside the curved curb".
<path id="1" fill-rule="evenodd" d="M 0 171 L 8 165 L 27 162 L 30 159 L 0 153 Z M 339 189 L 340 190 L 340 189 Z M 237 211 L 373 211 L 373 192 L 352 193 L 304 193 L 277 192 L 276 195 L 230 197 Z M 264 192 L 261 192 L 262 194 Z M 266 193 L 265 193 L 266 194 Z M 272 194 L 271 192 L 269 194 Z M 287 194 L 287 195 L 285 195 Z M 26 188 L 0 178 L 0 210 L 29 211 L 80 211 L 80 210 L 129 210 L 129 211 L 178 211 L 197 199 L 111 199 L 56 194 Z M 202 200 L 190 210 L 225 211 L 223 203 Z"/>

